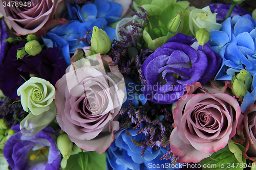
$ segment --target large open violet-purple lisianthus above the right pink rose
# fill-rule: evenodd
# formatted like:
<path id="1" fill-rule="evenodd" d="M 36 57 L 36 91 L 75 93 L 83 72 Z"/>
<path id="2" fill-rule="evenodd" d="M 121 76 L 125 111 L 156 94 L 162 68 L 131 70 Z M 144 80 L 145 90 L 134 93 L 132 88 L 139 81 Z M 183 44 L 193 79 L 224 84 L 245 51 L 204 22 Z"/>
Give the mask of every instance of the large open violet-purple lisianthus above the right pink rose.
<path id="1" fill-rule="evenodd" d="M 143 94 L 157 104 L 171 104 L 184 94 L 186 85 L 207 83 L 215 76 L 221 57 L 211 50 L 208 43 L 198 45 L 183 34 L 177 34 L 147 57 L 142 72 L 147 84 Z"/>

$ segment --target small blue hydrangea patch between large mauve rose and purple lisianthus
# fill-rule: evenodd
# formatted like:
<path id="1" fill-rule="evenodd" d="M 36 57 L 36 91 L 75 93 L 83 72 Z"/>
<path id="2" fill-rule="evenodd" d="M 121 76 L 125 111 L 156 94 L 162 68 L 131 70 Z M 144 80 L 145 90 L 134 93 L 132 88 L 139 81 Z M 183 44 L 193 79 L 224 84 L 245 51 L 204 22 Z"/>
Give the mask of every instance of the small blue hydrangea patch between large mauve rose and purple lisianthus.
<path id="1" fill-rule="evenodd" d="M 129 101 L 132 100 L 134 106 L 138 106 L 139 102 L 144 105 L 147 101 L 145 96 L 142 94 L 143 86 L 135 83 L 131 78 L 127 77 L 125 80 L 125 88 L 127 99 L 122 104 L 122 107 L 126 107 L 129 104 Z"/>

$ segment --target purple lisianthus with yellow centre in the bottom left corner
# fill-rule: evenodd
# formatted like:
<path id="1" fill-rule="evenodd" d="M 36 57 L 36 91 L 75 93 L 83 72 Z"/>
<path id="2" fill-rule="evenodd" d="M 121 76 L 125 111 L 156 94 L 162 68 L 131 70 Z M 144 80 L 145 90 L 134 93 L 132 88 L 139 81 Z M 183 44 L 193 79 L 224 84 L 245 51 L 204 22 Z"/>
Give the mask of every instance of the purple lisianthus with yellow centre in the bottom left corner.
<path id="1" fill-rule="evenodd" d="M 54 130 L 46 127 L 35 136 L 22 136 L 19 125 L 12 128 L 15 133 L 4 145 L 4 157 L 12 169 L 57 170 L 61 156 L 52 136 Z"/>

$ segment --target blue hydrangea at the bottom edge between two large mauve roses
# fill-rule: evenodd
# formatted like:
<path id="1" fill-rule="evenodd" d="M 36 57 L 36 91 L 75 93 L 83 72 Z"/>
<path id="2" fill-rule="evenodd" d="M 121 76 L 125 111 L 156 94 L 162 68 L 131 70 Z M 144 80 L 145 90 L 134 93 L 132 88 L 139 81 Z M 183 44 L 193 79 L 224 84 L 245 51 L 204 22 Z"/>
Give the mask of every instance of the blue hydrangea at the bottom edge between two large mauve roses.
<path id="1" fill-rule="evenodd" d="M 131 135 L 127 135 L 127 132 Z M 145 139 L 144 134 L 137 135 L 139 129 L 133 130 L 130 128 L 123 128 L 115 133 L 116 140 L 111 144 L 110 148 L 106 151 L 108 160 L 107 170 L 126 170 L 126 169 L 175 169 L 172 166 L 165 167 L 165 164 L 172 164 L 171 160 L 160 160 L 166 150 L 160 148 L 146 147 L 145 152 L 141 155 L 142 148 L 134 143 L 134 140 L 141 141 Z M 155 165 L 155 166 L 154 166 Z M 162 167 L 156 167 L 162 165 Z M 178 166 L 179 167 L 179 166 Z"/>

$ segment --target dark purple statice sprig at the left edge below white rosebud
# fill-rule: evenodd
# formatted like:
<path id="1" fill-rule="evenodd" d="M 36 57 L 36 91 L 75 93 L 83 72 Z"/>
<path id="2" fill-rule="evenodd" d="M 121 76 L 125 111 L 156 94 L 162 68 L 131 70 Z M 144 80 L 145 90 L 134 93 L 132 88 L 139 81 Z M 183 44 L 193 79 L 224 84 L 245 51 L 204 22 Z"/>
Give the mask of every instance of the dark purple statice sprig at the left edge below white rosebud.
<path id="1" fill-rule="evenodd" d="M 20 101 L 17 100 L 8 97 L 0 98 L 0 118 L 7 121 L 9 126 L 17 125 L 28 115 L 28 112 L 23 110 Z"/>

